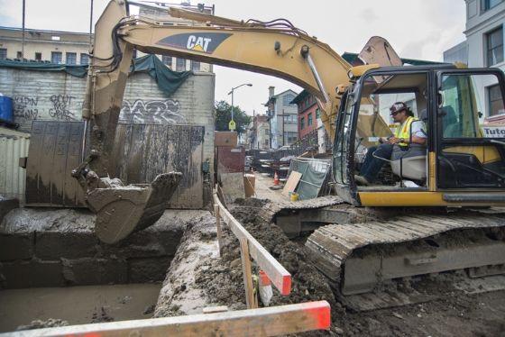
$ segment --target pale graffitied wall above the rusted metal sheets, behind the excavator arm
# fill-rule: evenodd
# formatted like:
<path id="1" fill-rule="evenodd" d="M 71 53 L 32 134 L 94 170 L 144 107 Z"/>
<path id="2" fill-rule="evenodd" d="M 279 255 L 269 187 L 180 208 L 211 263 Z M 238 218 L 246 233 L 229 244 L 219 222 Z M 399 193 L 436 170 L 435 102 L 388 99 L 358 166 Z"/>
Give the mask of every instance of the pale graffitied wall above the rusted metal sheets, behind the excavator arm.
<path id="1" fill-rule="evenodd" d="M 172 96 L 147 74 L 134 73 L 124 92 L 120 123 L 172 123 L 205 127 L 204 160 L 213 168 L 215 75 L 196 72 Z M 86 78 L 63 71 L 0 68 L 0 93 L 14 99 L 14 122 L 30 132 L 33 120 L 79 121 Z"/>

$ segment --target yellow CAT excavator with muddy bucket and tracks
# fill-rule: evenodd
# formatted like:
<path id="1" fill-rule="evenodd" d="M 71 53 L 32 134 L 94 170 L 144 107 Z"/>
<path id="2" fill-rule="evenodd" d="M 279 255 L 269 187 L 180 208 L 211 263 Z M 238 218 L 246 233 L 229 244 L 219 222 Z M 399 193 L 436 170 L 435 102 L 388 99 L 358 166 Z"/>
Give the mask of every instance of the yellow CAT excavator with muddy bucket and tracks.
<path id="1" fill-rule="evenodd" d="M 128 3 L 197 24 L 130 16 Z M 372 39 L 359 55 L 362 64 L 352 67 L 284 19 L 235 21 L 124 0 L 110 1 L 96 23 L 83 104 L 90 150 L 73 171 L 102 241 L 120 241 L 155 223 L 180 180 L 170 172 L 152 184 L 124 186 L 108 176 L 133 49 L 280 77 L 317 98 L 334 139 L 336 196 L 279 203 L 264 213 L 291 233 L 310 233 L 306 246 L 314 263 L 340 294 L 371 293 L 388 280 L 454 270 L 469 278 L 505 272 L 505 139 L 483 132 L 486 106 L 478 90 L 497 83 L 500 97 L 493 104 L 503 107 L 499 69 L 402 65 L 381 38 Z M 427 142 L 409 145 L 399 159 L 384 159 L 388 165 L 377 180 L 358 186 L 354 175 L 368 149 L 395 127 L 388 119 L 397 101 L 423 123 Z"/>

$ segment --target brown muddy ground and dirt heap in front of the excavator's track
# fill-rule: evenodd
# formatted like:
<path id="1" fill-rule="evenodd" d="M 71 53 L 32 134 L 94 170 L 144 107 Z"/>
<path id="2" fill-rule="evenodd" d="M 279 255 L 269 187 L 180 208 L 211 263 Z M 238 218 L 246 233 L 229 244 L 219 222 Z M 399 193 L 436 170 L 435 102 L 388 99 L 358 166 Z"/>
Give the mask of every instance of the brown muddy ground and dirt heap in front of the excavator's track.
<path id="1" fill-rule="evenodd" d="M 271 305 L 326 300 L 332 307 L 330 332 L 304 335 L 345 336 L 505 336 L 505 291 L 466 295 L 452 287 L 431 289 L 441 297 L 424 304 L 355 313 L 338 299 L 321 274 L 308 259 L 308 250 L 299 242 L 289 241 L 273 223 L 265 223 L 258 210 L 263 201 L 238 200 L 230 211 L 247 231 L 271 252 L 292 275 L 292 292 L 280 296 L 274 291 Z M 204 223 L 208 224 L 207 219 Z M 215 235 L 213 232 L 208 233 Z M 194 285 L 203 289 L 207 303 L 245 308 L 239 244 L 233 233 L 225 230 L 222 259 L 202 259 L 196 268 Z M 429 287 L 439 287 L 429 284 Z M 428 287 L 427 286 L 427 287 Z M 161 314 L 164 315 L 164 314 Z"/>

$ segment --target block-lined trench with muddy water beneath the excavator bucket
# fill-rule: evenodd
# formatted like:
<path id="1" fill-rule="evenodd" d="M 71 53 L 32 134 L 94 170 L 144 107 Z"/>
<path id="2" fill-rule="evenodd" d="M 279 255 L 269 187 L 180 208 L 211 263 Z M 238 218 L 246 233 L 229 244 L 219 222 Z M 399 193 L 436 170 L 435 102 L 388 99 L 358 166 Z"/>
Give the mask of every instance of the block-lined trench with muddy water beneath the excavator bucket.
<path id="1" fill-rule="evenodd" d="M 0 224 L 0 332 L 151 318 L 181 237 L 201 212 L 167 210 L 108 245 L 88 211 L 14 209 Z"/>

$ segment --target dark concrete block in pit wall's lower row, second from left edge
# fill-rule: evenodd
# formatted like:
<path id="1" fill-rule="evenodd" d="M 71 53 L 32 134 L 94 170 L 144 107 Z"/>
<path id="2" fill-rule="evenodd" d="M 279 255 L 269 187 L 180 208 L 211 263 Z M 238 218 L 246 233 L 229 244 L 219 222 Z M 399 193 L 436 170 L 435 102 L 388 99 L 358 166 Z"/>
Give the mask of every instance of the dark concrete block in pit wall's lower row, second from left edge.
<path id="1" fill-rule="evenodd" d="M 69 285 L 123 284 L 128 281 L 128 265 L 120 259 L 63 260 L 63 278 Z"/>

